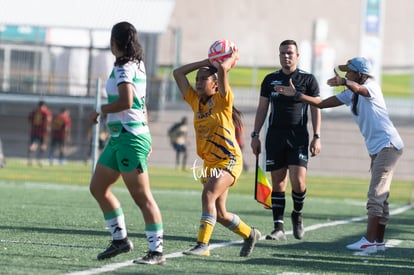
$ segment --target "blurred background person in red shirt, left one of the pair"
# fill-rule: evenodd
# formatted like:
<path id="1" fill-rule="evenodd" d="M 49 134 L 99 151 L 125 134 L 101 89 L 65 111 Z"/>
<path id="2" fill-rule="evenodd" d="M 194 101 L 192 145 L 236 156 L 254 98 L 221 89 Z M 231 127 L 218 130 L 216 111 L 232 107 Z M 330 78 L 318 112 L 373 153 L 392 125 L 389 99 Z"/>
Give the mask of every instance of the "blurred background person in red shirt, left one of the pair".
<path id="1" fill-rule="evenodd" d="M 30 142 L 28 150 L 28 165 L 32 165 L 33 154 L 36 154 L 39 166 L 41 158 L 47 149 L 47 137 L 50 130 L 52 113 L 44 101 L 39 101 L 37 107 L 29 114 Z"/>

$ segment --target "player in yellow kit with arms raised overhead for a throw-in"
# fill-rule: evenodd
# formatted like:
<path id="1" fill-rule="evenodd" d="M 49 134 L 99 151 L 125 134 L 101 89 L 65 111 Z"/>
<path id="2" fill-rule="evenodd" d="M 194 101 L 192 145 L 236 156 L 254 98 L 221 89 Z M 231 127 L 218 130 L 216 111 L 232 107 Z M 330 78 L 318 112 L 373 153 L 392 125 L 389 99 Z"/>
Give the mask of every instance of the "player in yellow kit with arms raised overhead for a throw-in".
<path id="1" fill-rule="evenodd" d="M 243 160 L 235 137 L 235 122 L 239 112 L 233 107 L 228 72 L 235 65 L 238 52 L 218 69 L 208 59 L 193 62 L 174 70 L 174 78 L 184 100 L 194 112 L 197 154 L 204 161 L 201 181 L 202 215 L 197 244 L 184 251 L 186 255 L 209 256 L 209 241 L 216 221 L 244 239 L 240 256 L 249 256 L 260 239 L 260 232 L 244 223 L 236 214 L 227 212 L 226 201 L 230 186 L 241 174 Z M 195 89 L 187 74 L 197 71 Z"/>

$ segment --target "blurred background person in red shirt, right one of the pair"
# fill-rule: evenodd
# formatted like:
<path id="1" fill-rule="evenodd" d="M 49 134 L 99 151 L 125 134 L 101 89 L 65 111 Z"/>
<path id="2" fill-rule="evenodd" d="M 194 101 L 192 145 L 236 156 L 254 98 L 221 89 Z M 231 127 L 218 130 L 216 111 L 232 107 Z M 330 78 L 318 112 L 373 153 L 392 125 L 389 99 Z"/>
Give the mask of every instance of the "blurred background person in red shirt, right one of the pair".
<path id="1" fill-rule="evenodd" d="M 63 165 L 65 143 L 70 142 L 71 123 L 67 108 L 62 108 L 58 114 L 53 116 L 50 132 L 50 165 L 53 165 L 56 149 L 59 153 L 59 164 Z"/>

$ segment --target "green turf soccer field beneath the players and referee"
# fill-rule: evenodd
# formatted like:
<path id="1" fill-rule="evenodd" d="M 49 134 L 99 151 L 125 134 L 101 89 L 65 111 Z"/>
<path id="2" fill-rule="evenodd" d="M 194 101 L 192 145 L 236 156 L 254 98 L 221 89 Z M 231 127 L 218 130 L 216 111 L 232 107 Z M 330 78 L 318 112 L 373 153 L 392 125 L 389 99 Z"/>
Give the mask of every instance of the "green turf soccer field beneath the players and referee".
<path id="1" fill-rule="evenodd" d="M 102 213 L 89 194 L 87 184 L 80 180 L 66 182 L 67 178 L 73 181 L 83 173 L 88 175 L 88 168 L 82 168 L 82 165 L 69 167 L 66 169 L 75 173 L 63 176 L 67 172 L 59 171 L 59 167 L 30 168 L 34 172 L 22 167 L 22 171 L 26 170 L 29 175 L 55 174 L 52 176 L 55 181 L 42 182 L 31 181 L 23 175 L 10 179 L 9 171 L 18 169 L 17 166 L 11 163 L 0 170 L 0 274 L 414 273 L 414 211 L 405 199 L 393 200 L 391 195 L 392 216 L 386 234 L 385 254 L 356 256 L 345 249 L 346 244 L 358 240 L 365 232 L 365 185 L 353 187 L 355 193 L 361 193 L 360 198 L 346 196 L 340 191 L 330 195 L 309 192 L 303 240 L 293 238 L 290 218 L 286 215 L 287 241 L 261 240 L 251 257 L 241 258 L 238 256 L 239 237 L 217 224 L 211 239 L 211 256 L 191 257 L 183 256 L 181 251 L 191 247 L 196 239 L 201 214 L 200 186 L 186 173 L 153 169 L 154 196 L 164 218 L 167 263 L 142 266 L 132 264 L 132 260 L 142 257 L 147 250 L 144 224 L 122 184 L 117 184 L 114 190 L 123 203 L 129 237 L 135 249 L 108 261 L 97 261 L 96 255 L 111 239 Z M 34 174 L 31 177 L 36 179 Z M 246 185 L 253 175 L 244 177 L 248 180 L 241 181 L 240 185 Z M 315 189 L 319 189 L 316 184 Z M 243 186 L 231 190 L 228 209 L 263 234 L 269 233 L 272 230 L 271 212 L 243 190 Z M 291 200 L 288 199 L 286 213 L 290 211 Z"/>

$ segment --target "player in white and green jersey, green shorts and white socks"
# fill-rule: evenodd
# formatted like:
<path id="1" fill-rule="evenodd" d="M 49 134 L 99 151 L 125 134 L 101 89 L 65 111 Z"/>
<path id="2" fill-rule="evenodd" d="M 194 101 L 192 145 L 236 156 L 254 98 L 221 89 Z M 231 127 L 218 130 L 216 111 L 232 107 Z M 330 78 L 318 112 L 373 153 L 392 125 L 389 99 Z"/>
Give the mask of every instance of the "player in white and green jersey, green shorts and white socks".
<path id="1" fill-rule="evenodd" d="M 108 104 L 99 106 L 107 114 L 110 139 L 99 157 L 90 184 L 105 222 L 112 234 L 108 248 L 98 255 L 103 260 L 132 250 L 127 237 L 125 217 L 111 186 L 122 176 L 129 193 L 141 209 L 149 251 L 137 264 L 162 264 L 163 224 L 161 212 L 150 189 L 147 157 L 151 151 L 151 135 L 145 106 L 146 74 L 138 33 L 133 25 L 120 22 L 111 32 L 114 68 L 106 84 Z"/>

